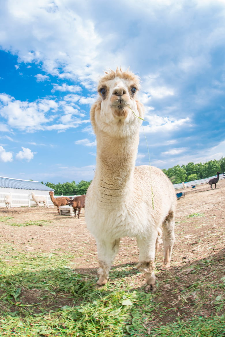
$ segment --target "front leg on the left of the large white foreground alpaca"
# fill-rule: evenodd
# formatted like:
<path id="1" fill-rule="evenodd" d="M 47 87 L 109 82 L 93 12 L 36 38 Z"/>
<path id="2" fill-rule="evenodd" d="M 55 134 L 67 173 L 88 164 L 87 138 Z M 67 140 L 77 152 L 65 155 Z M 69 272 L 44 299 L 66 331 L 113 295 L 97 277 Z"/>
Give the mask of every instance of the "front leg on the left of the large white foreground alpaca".
<path id="1" fill-rule="evenodd" d="M 111 264 L 119 250 L 120 239 L 114 241 L 96 240 L 96 244 L 100 264 L 100 268 L 98 269 L 99 279 L 97 284 L 104 285 L 107 283 Z"/>

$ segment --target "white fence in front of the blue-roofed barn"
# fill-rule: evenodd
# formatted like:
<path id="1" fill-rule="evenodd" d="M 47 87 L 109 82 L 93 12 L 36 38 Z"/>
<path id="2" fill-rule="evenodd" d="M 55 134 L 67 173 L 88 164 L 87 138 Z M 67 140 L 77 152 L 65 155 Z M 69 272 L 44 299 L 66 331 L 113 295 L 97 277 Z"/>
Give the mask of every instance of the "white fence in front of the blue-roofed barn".
<path id="1" fill-rule="evenodd" d="M 12 205 L 11 207 L 20 207 L 20 206 L 36 206 L 35 201 L 33 201 L 30 193 L 8 193 L 8 192 L 1 192 L 0 193 L 0 207 L 5 207 L 5 195 L 11 195 L 12 197 Z M 37 196 L 45 196 L 47 200 L 47 207 L 54 206 L 50 195 L 45 194 L 37 194 Z M 63 195 L 67 197 L 75 197 L 76 195 Z M 55 198 L 60 197 L 60 195 L 56 195 Z M 39 206 L 43 206 L 43 203 L 40 203 Z"/>

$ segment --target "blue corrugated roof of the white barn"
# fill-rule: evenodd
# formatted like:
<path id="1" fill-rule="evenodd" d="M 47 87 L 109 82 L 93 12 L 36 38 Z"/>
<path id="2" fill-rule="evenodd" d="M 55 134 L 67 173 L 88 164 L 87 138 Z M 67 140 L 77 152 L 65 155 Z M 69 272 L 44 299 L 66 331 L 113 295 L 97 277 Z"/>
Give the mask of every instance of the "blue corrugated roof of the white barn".
<path id="1" fill-rule="evenodd" d="M 6 177 L 0 177 L 0 187 L 29 189 L 29 190 L 37 190 L 37 191 L 54 190 L 53 188 L 45 186 L 39 181 L 22 180 L 22 179 L 14 179 L 14 178 L 6 178 Z"/>

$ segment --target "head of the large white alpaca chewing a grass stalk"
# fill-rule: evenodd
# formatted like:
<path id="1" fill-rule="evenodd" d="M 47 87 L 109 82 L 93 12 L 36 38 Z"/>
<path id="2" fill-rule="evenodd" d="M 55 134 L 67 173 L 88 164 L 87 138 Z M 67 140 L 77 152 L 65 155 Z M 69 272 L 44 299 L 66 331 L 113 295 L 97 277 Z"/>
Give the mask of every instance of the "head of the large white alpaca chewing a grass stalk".
<path id="1" fill-rule="evenodd" d="M 139 79 L 130 71 L 110 70 L 98 84 L 99 99 L 91 108 L 91 123 L 96 128 L 118 137 L 132 134 L 143 118 L 142 104 L 136 99 Z"/>

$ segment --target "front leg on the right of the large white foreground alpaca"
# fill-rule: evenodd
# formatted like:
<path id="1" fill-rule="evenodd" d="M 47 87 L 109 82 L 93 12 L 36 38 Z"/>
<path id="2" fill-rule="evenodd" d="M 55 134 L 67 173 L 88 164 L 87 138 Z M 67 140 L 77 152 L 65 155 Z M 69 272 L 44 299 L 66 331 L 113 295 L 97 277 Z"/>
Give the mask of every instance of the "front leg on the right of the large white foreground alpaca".
<path id="1" fill-rule="evenodd" d="M 144 289 L 146 293 L 149 290 L 155 291 L 155 250 L 156 250 L 156 242 L 158 238 L 158 231 L 156 230 L 152 233 L 150 238 L 140 238 L 137 237 L 137 245 L 139 247 L 139 263 L 137 268 L 145 274 L 147 286 Z"/>

